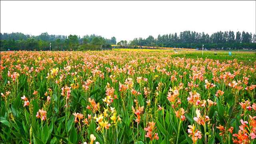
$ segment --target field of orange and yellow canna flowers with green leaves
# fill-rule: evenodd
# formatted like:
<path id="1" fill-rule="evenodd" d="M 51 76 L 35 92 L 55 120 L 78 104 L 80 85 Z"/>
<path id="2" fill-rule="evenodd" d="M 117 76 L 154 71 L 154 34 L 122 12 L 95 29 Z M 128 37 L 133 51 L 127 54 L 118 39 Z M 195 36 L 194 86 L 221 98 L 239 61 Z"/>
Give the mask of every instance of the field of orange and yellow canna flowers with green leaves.
<path id="1" fill-rule="evenodd" d="M 0 143 L 256 143 L 255 57 L 160 50 L 0 56 Z"/>

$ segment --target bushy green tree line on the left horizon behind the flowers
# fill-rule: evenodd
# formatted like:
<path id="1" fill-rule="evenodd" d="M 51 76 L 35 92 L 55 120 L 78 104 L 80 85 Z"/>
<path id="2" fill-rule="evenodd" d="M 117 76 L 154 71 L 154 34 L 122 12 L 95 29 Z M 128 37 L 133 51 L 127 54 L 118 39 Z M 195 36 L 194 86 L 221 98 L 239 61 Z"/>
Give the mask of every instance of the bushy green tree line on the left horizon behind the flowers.
<path id="1" fill-rule="evenodd" d="M 86 35 L 82 38 L 77 35 L 49 35 L 44 32 L 38 36 L 16 33 L 0 33 L 0 50 L 101 50 L 111 49 L 111 44 L 116 44 L 116 38 L 111 39 Z"/>

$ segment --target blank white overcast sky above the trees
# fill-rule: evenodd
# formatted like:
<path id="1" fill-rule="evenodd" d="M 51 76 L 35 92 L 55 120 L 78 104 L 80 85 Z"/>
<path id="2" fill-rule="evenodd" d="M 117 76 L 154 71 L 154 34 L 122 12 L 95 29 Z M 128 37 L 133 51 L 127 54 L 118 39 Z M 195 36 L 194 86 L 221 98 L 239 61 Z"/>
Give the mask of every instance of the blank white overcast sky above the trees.
<path id="1" fill-rule="evenodd" d="M 120 40 L 184 30 L 256 33 L 256 1 L 1 1 L 0 31 Z"/>

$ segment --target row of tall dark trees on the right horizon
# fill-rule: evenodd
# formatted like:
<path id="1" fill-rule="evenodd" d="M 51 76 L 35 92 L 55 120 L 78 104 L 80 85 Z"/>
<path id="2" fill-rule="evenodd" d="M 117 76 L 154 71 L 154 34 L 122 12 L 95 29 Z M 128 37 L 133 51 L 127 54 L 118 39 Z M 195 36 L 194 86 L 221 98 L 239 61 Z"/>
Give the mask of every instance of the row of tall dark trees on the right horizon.
<path id="1" fill-rule="evenodd" d="M 118 42 L 124 46 L 124 41 Z M 256 34 L 248 32 L 219 31 L 211 35 L 204 32 L 193 31 L 180 32 L 175 34 L 158 35 L 157 38 L 148 36 L 148 38 L 134 38 L 128 45 L 130 46 L 159 46 L 176 48 L 204 48 L 207 49 L 256 49 Z"/>

